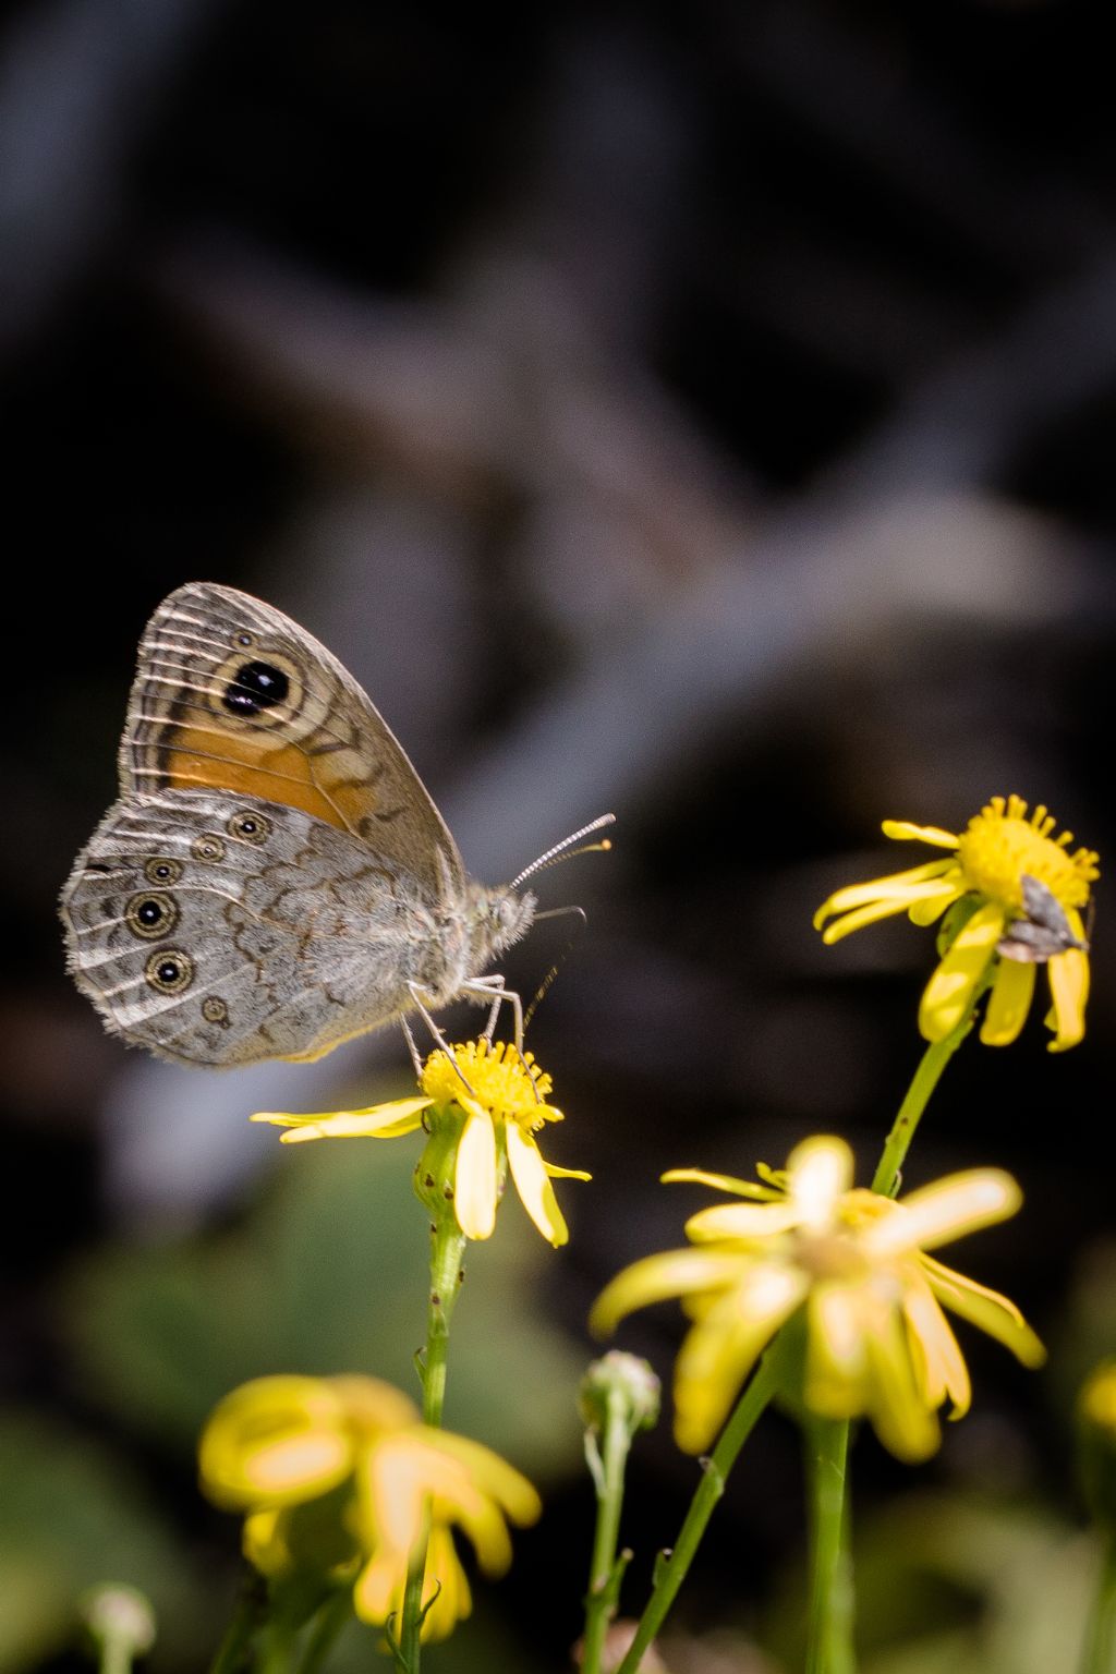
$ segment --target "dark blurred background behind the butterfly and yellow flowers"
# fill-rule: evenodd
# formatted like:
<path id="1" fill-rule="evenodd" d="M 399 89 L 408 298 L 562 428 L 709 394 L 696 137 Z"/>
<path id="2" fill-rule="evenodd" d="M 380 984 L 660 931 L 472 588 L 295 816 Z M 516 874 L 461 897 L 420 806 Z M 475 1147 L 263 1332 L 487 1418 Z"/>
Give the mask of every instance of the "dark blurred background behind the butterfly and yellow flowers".
<path id="1" fill-rule="evenodd" d="M 527 996 L 561 966 L 530 1040 L 567 1112 L 550 1153 L 594 1182 L 562 1187 L 557 1256 L 505 1205 L 447 1408 L 547 1515 L 432 1669 L 559 1671 L 586 1311 L 701 1200 L 659 1172 L 840 1132 L 867 1178 L 915 1065 L 932 937 L 827 951 L 818 901 L 915 862 L 883 817 L 959 829 L 997 792 L 1113 852 L 1109 22 L 1072 0 L 7 8 L 5 1674 L 77 1667 L 74 1595 L 104 1575 L 156 1597 L 159 1666 L 202 1666 L 238 1542 L 194 1487 L 209 1404 L 276 1369 L 407 1384 L 422 1334 L 413 1142 L 281 1152 L 246 1123 L 405 1091 L 398 1035 L 177 1071 L 65 978 L 55 897 L 114 797 L 152 608 L 214 579 L 305 623 L 475 876 L 617 815 L 609 857 L 540 881 L 587 926 L 507 961 Z M 1022 1217 L 957 1264 L 1052 1353 L 1027 1374 L 964 1333 L 975 1408 L 922 1470 L 863 1436 L 873 1674 L 1074 1666 L 1094 1553 L 1069 1413 L 1116 1341 L 1104 894 L 1084 1045 L 1051 1058 L 1036 1006 L 1011 1050 L 967 1046 L 909 1167 L 1019 1177 Z M 666 1374 L 679 1334 L 664 1307 L 621 1341 Z M 694 1470 L 666 1421 L 639 1448 L 632 1605 Z M 676 1674 L 796 1666 L 800 1507 L 768 1416 Z"/>

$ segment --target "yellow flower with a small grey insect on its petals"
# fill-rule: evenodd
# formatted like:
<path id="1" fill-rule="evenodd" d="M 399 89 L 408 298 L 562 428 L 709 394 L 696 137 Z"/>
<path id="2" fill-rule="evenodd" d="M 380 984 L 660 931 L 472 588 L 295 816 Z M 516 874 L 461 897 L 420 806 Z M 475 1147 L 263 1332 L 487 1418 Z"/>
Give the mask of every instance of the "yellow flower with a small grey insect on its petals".
<path id="1" fill-rule="evenodd" d="M 1044 807 L 1027 819 L 1021 797 L 992 797 L 960 835 L 885 820 L 885 837 L 949 849 L 949 859 L 838 889 L 818 907 L 815 929 L 825 924 L 823 939 L 835 942 L 893 912 L 934 924 L 964 901 L 970 912 L 922 996 L 924 1038 L 950 1035 L 991 979 L 980 1040 L 1009 1046 L 1031 1009 L 1036 964 L 1046 964 L 1052 996 L 1046 1024 L 1054 1031 L 1049 1050 L 1066 1051 L 1084 1035 L 1089 953 L 1083 912 L 1099 872 L 1091 849 L 1069 852 L 1071 832 L 1051 835 L 1054 824 Z"/>

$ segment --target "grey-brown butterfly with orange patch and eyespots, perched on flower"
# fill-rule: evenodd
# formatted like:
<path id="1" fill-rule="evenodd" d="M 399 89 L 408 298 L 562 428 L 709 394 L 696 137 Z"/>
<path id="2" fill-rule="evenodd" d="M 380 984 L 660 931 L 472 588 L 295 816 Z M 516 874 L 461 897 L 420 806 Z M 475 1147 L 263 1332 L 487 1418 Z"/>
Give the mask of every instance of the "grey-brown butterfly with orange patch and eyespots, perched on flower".
<path id="1" fill-rule="evenodd" d="M 119 780 L 60 906 L 112 1033 L 191 1065 L 310 1061 L 472 994 L 510 999 L 522 1040 L 484 971 L 535 916 L 524 877 L 584 834 L 512 884 L 470 879 L 381 715 L 281 611 L 207 581 L 162 601 Z"/>

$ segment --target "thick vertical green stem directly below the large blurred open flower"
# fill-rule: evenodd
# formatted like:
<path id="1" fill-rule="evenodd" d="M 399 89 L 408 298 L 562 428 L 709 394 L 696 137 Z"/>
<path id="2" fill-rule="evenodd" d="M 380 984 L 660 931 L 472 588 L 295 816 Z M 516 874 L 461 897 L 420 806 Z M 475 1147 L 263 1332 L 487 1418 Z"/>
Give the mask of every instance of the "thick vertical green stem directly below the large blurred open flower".
<path id="1" fill-rule="evenodd" d="M 805 1440 L 811 1570 L 806 1674 L 853 1674 L 853 1589 L 845 1550 L 848 1425 L 815 1418 L 806 1425 Z"/>

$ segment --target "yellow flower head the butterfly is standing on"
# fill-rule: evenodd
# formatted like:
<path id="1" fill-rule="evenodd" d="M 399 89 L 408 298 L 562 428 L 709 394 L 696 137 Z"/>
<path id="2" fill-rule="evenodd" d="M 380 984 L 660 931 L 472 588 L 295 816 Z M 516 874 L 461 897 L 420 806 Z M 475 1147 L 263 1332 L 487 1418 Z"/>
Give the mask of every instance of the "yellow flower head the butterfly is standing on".
<path id="1" fill-rule="evenodd" d="M 562 1112 L 547 1103 L 552 1081 L 535 1066 L 532 1053 L 522 1056 L 504 1041 L 484 1036 L 435 1051 L 423 1065 L 418 1098 L 397 1098 L 368 1110 L 336 1110 L 328 1115 L 294 1117 L 263 1110 L 253 1122 L 289 1128 L 288 1143 L 325 1138 L 395 1138 L 418 1127 L 448 1125 L 455 1150 L 452 1194 L 457 1224 L 465 1237 L 487 1239 L 495 1227 L 495 1209 L 510 1167 L 524 1209 L 557 1249 L 569 1229 L 557 1205 L 550 1180 L 589 1180 L 577 1168 L 545 1162 L 535 1133 L 547 1122 L 562 1122 Z"/>

